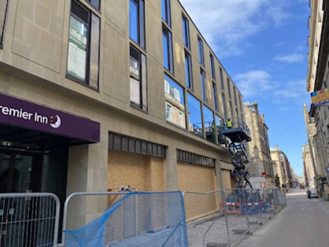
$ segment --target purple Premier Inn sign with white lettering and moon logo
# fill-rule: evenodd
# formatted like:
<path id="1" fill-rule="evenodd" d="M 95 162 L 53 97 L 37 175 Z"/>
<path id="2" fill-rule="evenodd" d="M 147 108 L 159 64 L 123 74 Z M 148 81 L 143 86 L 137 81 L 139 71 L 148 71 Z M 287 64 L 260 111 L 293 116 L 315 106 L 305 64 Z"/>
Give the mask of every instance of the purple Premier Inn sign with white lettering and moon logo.
<path id="1" fill-rule="evenodd" d="M 0 94 L 0 123 L 98 143 L 100 123 Z"/>

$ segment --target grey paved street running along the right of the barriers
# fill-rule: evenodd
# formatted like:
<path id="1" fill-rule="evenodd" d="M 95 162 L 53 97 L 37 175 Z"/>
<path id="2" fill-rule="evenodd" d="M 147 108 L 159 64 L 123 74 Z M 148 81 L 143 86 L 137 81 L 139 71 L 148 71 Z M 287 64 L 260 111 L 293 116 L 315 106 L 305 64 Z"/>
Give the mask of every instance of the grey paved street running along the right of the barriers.
<path id="1" fill-rule="evenodd" d="M 329 201 L 307 199 L 305 189 L 287 193 L 287 207 L 231 246 L 329 246 Z"/>

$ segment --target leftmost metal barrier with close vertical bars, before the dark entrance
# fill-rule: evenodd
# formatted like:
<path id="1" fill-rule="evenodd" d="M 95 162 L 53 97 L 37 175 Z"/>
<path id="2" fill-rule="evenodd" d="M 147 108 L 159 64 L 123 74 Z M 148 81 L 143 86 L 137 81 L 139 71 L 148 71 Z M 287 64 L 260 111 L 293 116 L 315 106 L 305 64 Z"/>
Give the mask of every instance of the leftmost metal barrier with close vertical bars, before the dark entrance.
<path id="1" fill-rule="evenodd" d="M 0 194 L 0 246 L 58 243 L 60 201 L 52 193 Z"/>

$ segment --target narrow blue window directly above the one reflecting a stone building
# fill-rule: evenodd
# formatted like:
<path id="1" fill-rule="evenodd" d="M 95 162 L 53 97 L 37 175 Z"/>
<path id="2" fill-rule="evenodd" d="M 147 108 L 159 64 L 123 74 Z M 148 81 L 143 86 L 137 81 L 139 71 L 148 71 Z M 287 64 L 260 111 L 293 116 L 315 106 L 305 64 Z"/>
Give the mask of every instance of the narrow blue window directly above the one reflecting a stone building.
<path id="1" fill-rule="evenodd" d="M 174 73 L 172 34 L 162 25 L 163 66 Z"/>

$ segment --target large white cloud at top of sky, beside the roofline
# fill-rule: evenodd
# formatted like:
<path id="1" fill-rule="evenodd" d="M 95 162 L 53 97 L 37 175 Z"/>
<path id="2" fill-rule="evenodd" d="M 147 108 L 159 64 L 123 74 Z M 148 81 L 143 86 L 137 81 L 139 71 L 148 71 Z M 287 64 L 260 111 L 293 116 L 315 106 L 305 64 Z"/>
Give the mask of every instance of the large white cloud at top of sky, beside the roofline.
<path id="1" fill-rule="evenodd" d="M 288 19 L 286 0 L 180 0 L 218 57 L 240 55 L 245 39 Z"/>

